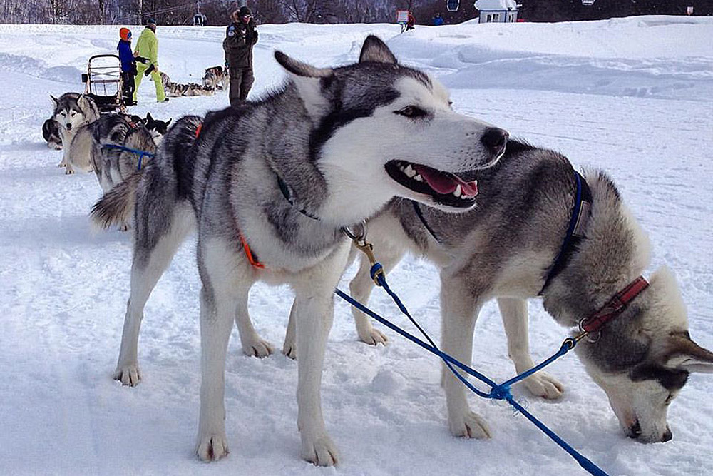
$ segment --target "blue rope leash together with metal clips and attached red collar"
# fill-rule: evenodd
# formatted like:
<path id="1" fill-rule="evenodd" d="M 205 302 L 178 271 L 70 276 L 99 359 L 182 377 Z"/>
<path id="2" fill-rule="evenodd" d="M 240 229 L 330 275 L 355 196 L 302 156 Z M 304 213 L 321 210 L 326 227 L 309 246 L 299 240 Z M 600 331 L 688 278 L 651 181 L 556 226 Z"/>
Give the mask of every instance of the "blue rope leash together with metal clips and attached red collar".
<path id="1" fill-rule="evenodd" d="M 376 262 L 376 259 L 374 258 L 373 245 L 366 241 L 366 228 L 364 228 L 364 233 L 361 234 L 361 236 L 356 235 L 355 233 L 350 231 L 349 228 L 344 228 L 344 230 L 344 233 L 347 234 L 349 238 L 352 238 L 352 240 L 354 241 L 354 245 L 356 245 L 356 248 L 359 248 L 359 250 L 365 253 L 367 258 L 369 258 L 369 262 L 371 263 L 371 270 L 369 271 L 371 279 L 374 280 L 374 283 L 376 283 L 377 286 L 384 288 L 386 293 L 391 296 L 391 298 L 394 300 L 394 303 L 396 303 L 396 305 L 399 307 L 401 313 L 404 313 L 404 315 L 409 318 L 411 323 L 413 323 L 416 328 L 419 329 L 419 331 L 425 336 L 426 340 L 428 340 L 428 343 L 417 338 L 415 335 L 412 335 L 406 330 L 399 328 L 398 325 L 391 323 L 386 318 L 381 317 L 381 315 L 374 313 L 374 311 L 370 310 L 369 308 L 366 308 L 366 306 L 359 303 L 359 301 L 355 300 L 347 293 L 344 293 L 339 288 L 336 288 L 334 290 L 335 294 L 337 294 L 340 298 L 346 300 L 347 303 L 353 305 L 355 308 L 361 310 L 362 313 L 369 315 L 371 318 L 378 320 L 379 323 L 382 323 L 386 325 L 386 327 L 388 327 L 389 329 L 394 330 L 394 332 L 398 333 L 399 335 L 402 335 L 403 337 L 411 340 L 411 342 L 420 345 L 422 348 L 428 350 L 429 352 L 438 355 L 438 357 L 440 357 L 446 364 L 448 369 L 451 370 L 453 375 L 455 375 L 456 378 L 458 378 L 458 380 L 463 383 L 463 385 L 466 385 L 469 390 L 471 390 L 473 393 L 476 393 L 476 395 L 491 400 L 506 400 L 506 402 L 512 405 L 515 410 L 524 415 L 525 418 L 527 418 L 528 420 L 530 420 L 530 422 L 533 423 L 533 425 L 535 425 L 536 427 L 538 427 L 538 429 L 540 429 L 540 431 L 545 433 L 545 435 L 547 435 L 550 440 L 553 440 L 553 442 L 555 442 L 559 447 L 568 452 L 568 454 L 578 462 L 580 467 L 583 467 L 583 469 L 589 472 L 590 475 L 609 476 L 604 470 L 595 465 L 594 462 L 588 460 L 588 458 L 586 458 L 580 452 L 568 445 L 568 443 L 565 442 L 565 440 L 563 440 L 555 432 L 553 432 L 553 430 L 550 430 L 550 428 L 547 427 L 543 422 L 540 422 L 540 420 L 538 420 L 534 415 L 525 410 L 525 408 L 520 405 L 511 394 L 510 387 L 511 385 L 519 382 L 520 380 L 528 378 L 530 375 L 537 372 L 538 370 L 545 368 L 547 365 L 550 365 L 550 363 L 553 363 L 555 360 L 575 348 L 575 345 L 577 345 L 577 343 L 581 339 L 585 338 L 585 336 L 587 336 L 590 331 L 598 331 L 602 325 L 614 318 L 615 315 L 617 315 L 618 313 L 621 313 L 627 303 L 629 303 L 630 300 L 635 298 L 638 293 L 640 293 L 643 289 L 646 288 L 646 286 L 641 283 L 641 280 L 645 281 L 644 278 L 637 278 L 637 280 L 627 286 L 624 291 L 615 295 L 615 297 L 612 298 L 612 300 L 610 300 L 607 304 L 605 304 L 599 311 L 597 311 L 597 313 L 580 321 L 581 332 L 573 338 L 565 339 L 562 345 L 560 346 L 560 349 L 550 358 L 544 360 L 542 363 L 535 365 L 535 367 L 530 368 L 529 370 L 526 370 L 523 373 L 515 375 L 515 377 L 511 378 L 510 380 L 506 380 L 506 382 L 503 382 L 498 385 L 493 380 L 486 377 L 486 375 L 479 373 L 477 370 L 474 370 L 469 365 L 465 365 L 456 358 L 451 357 L 451 355 L 448 355 L 441 351 L 434 343 L 434 341 L 429 337 L 428 333 L 426 333 L 426 331 L 421 328 L 419 323 L 414 320 L 414 318 L 409 313 L 409 310 L 406 309 L 404 303 L 402 303 L 401 299 L 399 299 L 399 296 L 396 295 L 396 293 L 394 293 L 394 291 L 391 290 L 391 288 L 389 287 L 389 284 L 386 283 L 386 275 L 384 274 L 384 268 L 381 266 L 381 263 Z M 605 313 L 607 315 L 607 319 L 597 318 L 597 315 L 599 315 L 600 313 Z M 587 325 L 590 330 L 585 330 L 585 325 Z M 468 380 L 466 380 L 466 378 L 463 377 L 463 375 L 461 375 L 461 373 L 459 373 L 455 369 L 455 367 L 463 370 L 463 372 L 468 373 L 469 375 L 472 375 L 478 380 L 481 380 L 481 382 L 485 383 L 491 388 L 490 392 L 488 393 L 484 392 L 483 390 L 478 390 L 478 388 L 468 382 Z"/>

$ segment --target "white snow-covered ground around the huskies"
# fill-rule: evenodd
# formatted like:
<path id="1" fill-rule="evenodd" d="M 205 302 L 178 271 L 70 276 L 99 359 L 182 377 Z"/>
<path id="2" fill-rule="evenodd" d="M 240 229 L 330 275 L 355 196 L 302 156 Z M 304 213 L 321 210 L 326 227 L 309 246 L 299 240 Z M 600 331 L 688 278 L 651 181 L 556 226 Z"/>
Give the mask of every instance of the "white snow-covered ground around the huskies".
<path id="1" fill-rule="evenodd" d="M 134 27 L 134 36 L 140 27 Z M 222 64 L 221 28 L 159 26 L 160 68 L 200 82 Z M 650 233 L 653 262 L 675 273 L 691 334 L 713 347 L 713 19 L 647 16 L 563 24 L 463 24 L 399 35 L 395 25 L 265 25 L 255 49 L 260 95 L 282 81 L 272 51 L 317 66 L 356 60 L 367 34 L 405 64 L 451 88 L 454 107 L 555 148 L 580 166 L 604 168 Z M 440 364 L 393 333 L 386 347 L 356 341 L 337 303 L 324 366 L 327 429 L 337 469 L 299 459 L 297 365 L 277 352 L 258 360 L 232 336 L 226 409 L 230 455 L 193 455 L 198 420 L 198 273 L 190 240 L 150 298 L 140 338 L 144 380 L 111 378 L 128 297 L 130 236 L 93 234 L 87 213 L 101 191 L 93 174 L 65 176 L 46 148 L 49 94 L 81 91 L 91 54 L 116 48 L 118 26 L 0 25 L 0 474 L 3 475 L 547 475 L 585 474 L 503 403 L 471 400 L 493 438 L 458 440 L 446 428 Z M 142 115 L 178 118 L 227 105 L 227 94 L 157 104 L 140 90 Z M 377 250 L 378 253 L 378 250 Z M 354 273 L 347 271 L 342 287 Z M 390 275 L 422 325 L 438 338 L 438 273 L 408 258 Z M 257 285 L 256 328 L 280 348 L 292 295 Z M 378 291 L 377 312 L 403 323 Z M 536 358 L 566 331 L 530 303 Z M 235 331 L 237 333 L 237 331 Z M 476 367 L 512 375 L 496 306 L 486 305 Z M 641 445 L 620 432 L 605 394 L 573 356 L 550 373 L 560 402 L 515 394 L 531 412 L 610 475 L 713 474 L 713 381 L 692 375 L 672 404 L 674 440 Z"/>

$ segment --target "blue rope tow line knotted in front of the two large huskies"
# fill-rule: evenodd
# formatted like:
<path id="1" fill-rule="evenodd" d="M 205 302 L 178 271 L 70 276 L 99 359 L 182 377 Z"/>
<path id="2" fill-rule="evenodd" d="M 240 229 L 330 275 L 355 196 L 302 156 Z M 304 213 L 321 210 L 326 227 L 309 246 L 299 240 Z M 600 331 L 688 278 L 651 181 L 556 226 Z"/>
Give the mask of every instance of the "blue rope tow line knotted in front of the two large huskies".
<path id="1" fill-rule="evenodd" d="M 451 355 L 448 355 L 446 353 L 443 353 L 440 349 L 438 349 L 438 346 L 434 343 L 433 340 L 429 337 L 429 335 L 426 333 L 426 331 L 421 328 L 419 323 L 416 323 L 416 320 L 411 317 L 411 314 L 409 313 L 409 310 L 406 309 L 406 306 L 404 306 L 403 303 L 401 303 L 401 299 L 399 299 L 399 296 L 394 293 L 391 288 L 389 288 L 389 285 L 386 283 L 386 276 L 383 273 L 383 269 L 381 267 L 380 263 L 375 263 L 374 265 L 371 266 L 371 278 L 376 282 L 377 285 L 381 286 L 381 288 L 384 288 L 386 293 L 388 293 L 391 298 L 394 300 L 394 303 L 396 303 L 397 306 L 399 306 L 399 309 L 401 310 L 401 313 L 404 313 L 406 317 L 411 320 L 411 323 L 414 323 L 416 325 L 416 328 L 419 329 L 419 331 L 426 337 L 426 340 L 429 342 L 426 343 L 423 340 L 417 338 L 415 335 L 412 335 L 411 333 L 406 332 L 406 330 L 403 330 L 399 328 L 398 325 L 395 325 L 391 323 L 389 320 L 386 318 L 381 317 L 380 315 L 374 313 L 372 310 L 369 308 L 366 308 L 366 306 L 362 305 L 359 303 L 359 301 L 354 300 L 352 296 L 342 292 L 342 290 L 339 290 L 339 288 L 334 290 L 334 293 L 337 294 L 340 298 L 344 299 L 347 301 L 347 303 L 353 305 L 355 308 L 361 310 L 362 313 L 365 313 L 366 315 L 371 316 L 371 318 L 374 318 L 378 320 L 380 323 L 386 325 L 387 328 L 394 330 L 396 333 L 399 333 L 400 335 L 404 336 L 405 338 L 411 340 L 412 342 L 420 345 L 422 348 L 428 350 L 431 353 L 434 353 L 438 355 L 441 359 L 443 359 L 443 362 L 446 363 L 446 366 L 453 372 L 453 375 L 456 375 L 458 380 L 461 380 L 463 385 L 466 385 L 467 388 L 473 391 L 473 393 L 476 393 L 476 395 L 479 395 L 483 398 L 489 398 L 493 400 L 506 400 L 510 405 L 513 405 L 515 410 L 518 410 L 518 412 L 522 413 L 525 415 L 525 418 L 530 420 L 530 422 L 533 422 L 533 424 L 538 427 L 545 435 L 550 437 L 550 440 L 553 440 L 555 443 L 557 443 L 563 450 L 568 452 L 571 457 L 573 457 L 581 467 L 583 467 L 587 472 L 589 472 L 591 475 L 595 476 L 609 476 L 607 475 L 606 472 L 604 472 L 600 467 L 595 465 L 592 461 L 588 460 L 586 457 L 581 455 L 577 450 L 575 450 L 573 447 L 567 444 L 565 440 L 560 438 L 555 432 L 550 430 L 543 422 L 540 422 L 537 418 L 535 418 L 534 415 L 532 415 L 530 412 L 525 410 L 525 408 L 520 405 L 518 402 L 515 401 L 515 398 L 510 392 L 510 387 L 514 383 L 519 382 L 520 380 L 523 380 L 525 378 L 528 378 L 530 375 L 533 373 L 537 372 L 538 370 L 546 367 L 547 365 L 550 365 L 550 363 L 553 363 L 555 360 L 558 358 L 562 357 L 568 351 L 572 350 L 575 345 L 577 345 L 577 340 L 573 338 L 568 338 L 562 343 L 562 347 L 560 347 L 560 350 L 557 351 L 552 357 L 548 358 L 544 362 L 535 365 L 535 367 L 531 368 L 530 370 L 526 370 L 523 373 L 520 373 L 519 375 L 515 375 L 515 377 L 511 378 L 510 380 L 506 380 L 505 382 L 501 383 L 498 385 L 497 383 L 493 382 L 493 380 L 487 378 L 485 375 L 482 373 L 479 373 L 477 370 L 473 370 L 469 365 L 465 365 L 464 363 L 461 363 L 459 360 L 456 360 L 455 358 L 451 357 Z M 483 392 L 482 390 L 478 390 L 475 388 L 468 380 L 466 380 L 461 373 L 459 373 L 455 368 L 458 367 L 463 372 L 468 373 L 470 375 L 473 375 L 473 377 L 477 378 L 478 380 L 481 380 L 481 382 L 486 383 L 491 387 L 490 393 Z"/>

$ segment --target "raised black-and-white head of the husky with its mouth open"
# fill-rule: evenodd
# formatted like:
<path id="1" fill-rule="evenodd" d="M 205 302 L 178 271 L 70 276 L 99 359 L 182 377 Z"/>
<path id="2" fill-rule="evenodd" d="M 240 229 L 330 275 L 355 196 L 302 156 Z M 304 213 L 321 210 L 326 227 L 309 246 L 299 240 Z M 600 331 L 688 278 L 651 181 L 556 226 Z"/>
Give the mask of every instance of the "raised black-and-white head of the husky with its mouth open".
<path id="1" fill-rule="evenodd" d="M 367 216 L 392 196 L 453 211 L 475 205 L 474 173 L 498 160 L 508 133 L 453 112 L 441 83 L 398 64 L 376 36 L 350 66 L 315 68 L 279 51 L 275 58 L 312 121 L 309 151 L 330 189 L 331 218 L 361 220 L 350 212 L 355 196 Z"/>

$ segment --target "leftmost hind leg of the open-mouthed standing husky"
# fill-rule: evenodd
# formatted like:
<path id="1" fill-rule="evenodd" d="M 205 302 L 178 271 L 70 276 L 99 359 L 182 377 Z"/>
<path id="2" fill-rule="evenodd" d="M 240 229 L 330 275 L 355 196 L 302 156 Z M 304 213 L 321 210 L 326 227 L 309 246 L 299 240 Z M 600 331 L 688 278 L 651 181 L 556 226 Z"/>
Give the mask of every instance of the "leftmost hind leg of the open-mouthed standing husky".
<path id="1" fill-rule="evenodd" d="M 140 206 L 137 203 L 137 207 Z M 195 218 L 188 203 L 176 206 L 165 233 L 155 230 L 150 216 L 138 214 L 133 262 L 131 264 L 131 294 L 126 303 L 126 317 L 119 360 L 114 378 L 123 385 L 136 385 L 141 380 L 138 368 L 138 334 L 143 319 L 143 308 L 158 279 L 168 268 L 173 255 L 194 228 Z"/>

